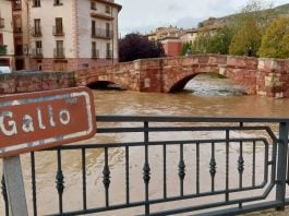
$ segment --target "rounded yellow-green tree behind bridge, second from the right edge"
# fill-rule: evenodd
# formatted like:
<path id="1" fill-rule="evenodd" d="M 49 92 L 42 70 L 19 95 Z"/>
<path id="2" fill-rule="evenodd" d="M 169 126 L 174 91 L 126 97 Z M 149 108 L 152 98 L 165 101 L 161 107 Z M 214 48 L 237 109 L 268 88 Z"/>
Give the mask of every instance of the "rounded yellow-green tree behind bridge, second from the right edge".
<path id="1" fill-rule="evenodd" d="M 233 35 L 229 53 L 238 56 L 256 56 L 261 45 L 262 35 L 254 20 L 248 19 Z"/>

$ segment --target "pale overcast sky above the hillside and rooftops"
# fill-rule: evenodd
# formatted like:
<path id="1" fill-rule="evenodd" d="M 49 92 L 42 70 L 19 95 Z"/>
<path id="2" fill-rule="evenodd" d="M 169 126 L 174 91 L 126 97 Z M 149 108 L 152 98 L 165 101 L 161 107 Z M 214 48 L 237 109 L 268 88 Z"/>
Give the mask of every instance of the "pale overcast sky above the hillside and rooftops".
<path id="1" fill-rule="evenodd" d="M 119 14 L 121 35 L 132 32 L 149 33 L 156 27 L 195 27 L 209 16 L 220 17 L 236 13 L 248 0 L 115 0 L 122 4 Z M 289 0 L 262 0 L 274 5 L 289 3 Z"/>

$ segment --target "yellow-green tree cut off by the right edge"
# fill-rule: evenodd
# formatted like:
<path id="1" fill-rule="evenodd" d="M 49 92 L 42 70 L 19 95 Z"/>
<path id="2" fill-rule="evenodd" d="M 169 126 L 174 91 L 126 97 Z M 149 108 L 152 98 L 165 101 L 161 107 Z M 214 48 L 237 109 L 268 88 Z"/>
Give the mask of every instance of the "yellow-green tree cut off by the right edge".
<path id="1" fill-rule="evenodd" d="M 279 17 L 270 23 L 262 38 L 261 57 L 289 58 L 289 17 Z"/>

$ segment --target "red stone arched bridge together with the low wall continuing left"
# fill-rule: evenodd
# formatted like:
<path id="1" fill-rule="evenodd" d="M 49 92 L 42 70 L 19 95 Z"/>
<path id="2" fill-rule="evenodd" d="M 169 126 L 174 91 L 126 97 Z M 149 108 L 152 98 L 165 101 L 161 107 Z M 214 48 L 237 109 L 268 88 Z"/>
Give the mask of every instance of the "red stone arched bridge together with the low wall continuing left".
<path id="1" fill-rule="evenodd" d="M 218 73 L 248 94 L 289 97 L 289 59 L 257 59 L 221 55 L 142 59 L 74 72 L 12 73 L 0 76 L 0 93 L 46 91 L 115 83 L 139 92 L 180 91 L 200 73 Z"/>

